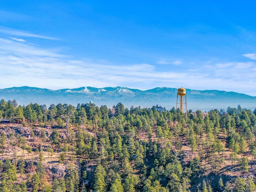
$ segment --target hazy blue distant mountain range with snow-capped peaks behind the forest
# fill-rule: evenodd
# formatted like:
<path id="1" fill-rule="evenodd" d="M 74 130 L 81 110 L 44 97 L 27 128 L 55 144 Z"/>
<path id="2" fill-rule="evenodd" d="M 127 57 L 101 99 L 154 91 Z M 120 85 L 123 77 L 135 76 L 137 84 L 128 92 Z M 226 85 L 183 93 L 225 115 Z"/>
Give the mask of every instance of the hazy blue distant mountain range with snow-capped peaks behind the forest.
<path id="1" fill-rule="evenodd" d="M 188 110 L 211 110 L 237 107 L 255 109 L 256 97 L 236 92 L 218 90 L 191 90 L 186 89 Z M 162 106 L 166 109 L 176 107 L 177 88 L 154 88 L 138 90 L 127 87 L 81 87 L 75 89 L 50 90 L 35 87 L 12 87 L 0 89 L 0 99 L 16 100 L 18 104 L 27 105 L 30 102 L 38 104 L 67 103 L 76 106 L 78 103 L 94 102 L 96 106 L 112 107 L 122 102 L 125 107 L 131 106 L 152 107 Z"/>

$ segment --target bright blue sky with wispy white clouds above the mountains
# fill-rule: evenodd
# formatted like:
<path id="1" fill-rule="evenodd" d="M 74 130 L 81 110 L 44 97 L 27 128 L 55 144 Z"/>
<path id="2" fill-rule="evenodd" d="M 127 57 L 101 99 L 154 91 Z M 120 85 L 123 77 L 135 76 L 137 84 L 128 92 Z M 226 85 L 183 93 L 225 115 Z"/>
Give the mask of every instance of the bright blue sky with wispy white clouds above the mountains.
<path id="1" fill-rule="evenodd" d="M 0 88 L 256 96 L 254 1 L 0 1 Z"/>

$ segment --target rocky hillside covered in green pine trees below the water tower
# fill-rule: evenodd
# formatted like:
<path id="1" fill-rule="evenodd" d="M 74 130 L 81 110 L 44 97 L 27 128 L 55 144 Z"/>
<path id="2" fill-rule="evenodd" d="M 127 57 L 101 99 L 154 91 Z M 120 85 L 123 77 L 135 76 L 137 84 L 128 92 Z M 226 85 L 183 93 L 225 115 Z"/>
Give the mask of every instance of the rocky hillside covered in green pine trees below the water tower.
<path id="1" fill-rule="evenodd" d="M 0 101 L 1 192 L 254 192 L 256 109 Z"/>

